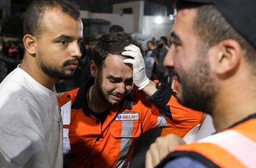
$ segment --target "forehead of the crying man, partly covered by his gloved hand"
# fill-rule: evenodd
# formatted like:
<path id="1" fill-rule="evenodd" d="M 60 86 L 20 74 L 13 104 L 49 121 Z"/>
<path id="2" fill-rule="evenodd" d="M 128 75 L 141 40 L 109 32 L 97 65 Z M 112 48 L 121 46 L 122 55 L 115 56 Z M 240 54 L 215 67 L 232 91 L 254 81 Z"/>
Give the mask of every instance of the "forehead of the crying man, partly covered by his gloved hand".
<path id="1" fill-rule="evenodd" d="M 132 66 L 123 63 L 125 57 L 117 54 L 108 54 L 103 63 L 103 71 L 114 76 L 132 76 Z"/>

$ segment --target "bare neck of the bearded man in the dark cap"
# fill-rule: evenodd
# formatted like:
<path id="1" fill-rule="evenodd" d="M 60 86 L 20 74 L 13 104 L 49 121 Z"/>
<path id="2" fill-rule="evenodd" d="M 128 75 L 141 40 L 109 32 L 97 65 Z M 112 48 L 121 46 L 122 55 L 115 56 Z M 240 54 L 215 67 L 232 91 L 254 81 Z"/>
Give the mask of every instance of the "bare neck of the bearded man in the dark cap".
<path id="1" fill-rule="evenodd" d="M 240 82 L 226 83 L 219 90 L 215 110 L 212 113 L 213 123 L 217 132 L 232 126 L 236 122 L 256 113 L 256 87 L 250 76 L 244 75 Z M 246 79 L 247 78 L 247 79 Z"/>

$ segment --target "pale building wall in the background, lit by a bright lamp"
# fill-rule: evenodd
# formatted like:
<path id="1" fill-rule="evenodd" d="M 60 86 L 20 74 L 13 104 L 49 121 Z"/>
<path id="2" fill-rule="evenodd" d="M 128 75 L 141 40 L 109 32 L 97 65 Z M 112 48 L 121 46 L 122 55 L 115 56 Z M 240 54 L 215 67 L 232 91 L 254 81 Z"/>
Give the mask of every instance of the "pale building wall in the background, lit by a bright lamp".
<path id="1" fill-rule="evenodd" d="M 153 4 L 153 3 L 150 3 Z M 145 2 L 125 2 L 121 4 L 114 4 L 113 14 L 92 13 L 81 10 L 82 18 L 99 18 L 111 22 L 111 25 L 120 25 L 127 33 L 135 33 L 136 36 L 143 39 L 160 38 L 169 34 L 173 26 L 173 20 L 169 17 L 161 16 L 162 23 L 156 23 L 157 16 L 144 15 Z M 161 6 L 158 7 L 160 9 Z M 122 9 L 132 8 L 132 14 L 122 14 Z M 166 11 L 166 7 L 163 7 Z M 153 11 L 153 10 L 152 10 Z"/>

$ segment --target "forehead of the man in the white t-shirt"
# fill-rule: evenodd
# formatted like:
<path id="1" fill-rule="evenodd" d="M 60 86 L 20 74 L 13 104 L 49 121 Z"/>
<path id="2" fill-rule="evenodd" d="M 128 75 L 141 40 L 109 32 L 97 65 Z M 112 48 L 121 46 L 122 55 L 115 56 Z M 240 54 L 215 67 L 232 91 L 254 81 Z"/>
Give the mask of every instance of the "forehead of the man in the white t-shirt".
<path id="1" fill-rule="evenodd" d="M 67 34 L 73 36 L 82 36 L 82 21 L 74 20 L 68 14 L 65 14 L 58 7 L 47 8 L 41 21 L 42 33 Z"/>

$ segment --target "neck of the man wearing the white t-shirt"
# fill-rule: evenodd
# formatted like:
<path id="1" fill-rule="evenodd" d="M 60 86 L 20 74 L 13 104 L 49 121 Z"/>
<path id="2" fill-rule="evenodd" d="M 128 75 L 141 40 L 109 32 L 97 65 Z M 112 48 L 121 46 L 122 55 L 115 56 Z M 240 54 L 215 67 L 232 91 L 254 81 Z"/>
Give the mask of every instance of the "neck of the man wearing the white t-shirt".
<path id="1" fill-rule="evenodd" d="M 54 84 L 58 81 L 58 79 L 51 78 L 47 74 L 45 74 L 43 70 L 38 67 L 38 64 L 36 62 L 33 62 L 33 60 L 28 60 L 28 58 L 24 57 L 20 68 L 27 72 L 41 85 L 45 86 L 49 90 L 54 91 Z"/>

